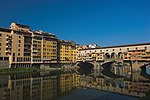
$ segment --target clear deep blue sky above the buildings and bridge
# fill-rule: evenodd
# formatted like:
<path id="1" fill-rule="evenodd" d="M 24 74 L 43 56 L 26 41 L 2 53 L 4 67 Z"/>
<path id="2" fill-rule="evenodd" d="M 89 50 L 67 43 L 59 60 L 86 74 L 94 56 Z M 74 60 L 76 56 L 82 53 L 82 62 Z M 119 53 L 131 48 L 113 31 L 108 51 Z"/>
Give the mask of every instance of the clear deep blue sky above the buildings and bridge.
<path id="1" fill-rule="evenodd" d="M 26 24 L 81 45 L 150 42 L 150 0 L 12 1 L 0 2 L 1 27 Z"/>

